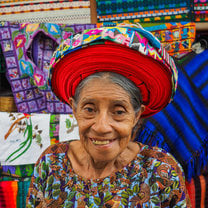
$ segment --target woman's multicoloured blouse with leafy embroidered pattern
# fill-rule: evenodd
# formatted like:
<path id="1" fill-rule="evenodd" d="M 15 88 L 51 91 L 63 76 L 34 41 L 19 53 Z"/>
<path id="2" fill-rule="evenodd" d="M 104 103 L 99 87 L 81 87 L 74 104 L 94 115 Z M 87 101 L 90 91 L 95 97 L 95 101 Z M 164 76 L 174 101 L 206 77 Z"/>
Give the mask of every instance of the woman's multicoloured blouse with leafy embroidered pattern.
<path id="1" fill-rule="evenodd" d="M 140 152 L 127 166 L 90 180 L 73 171 L 68 144 L 50 146 L 37 161 L 27 208 L 191 207 L 183 170 L 163 149 L 138 143 Z"/>

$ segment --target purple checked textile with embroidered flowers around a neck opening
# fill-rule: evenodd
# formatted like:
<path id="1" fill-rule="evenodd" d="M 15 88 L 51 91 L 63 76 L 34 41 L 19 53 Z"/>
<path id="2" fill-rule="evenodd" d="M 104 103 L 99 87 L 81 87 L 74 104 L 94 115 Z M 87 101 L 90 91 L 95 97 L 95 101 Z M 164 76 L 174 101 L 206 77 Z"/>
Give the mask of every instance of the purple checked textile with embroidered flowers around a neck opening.
<path id="1" fill-rule="evenodd" d="M 95 25 L 1 22 L 6 76 L 18 112 L 71 112 L 48 88 L 48 67 L 53 51 L 63 39 L 91 27 Z"/>

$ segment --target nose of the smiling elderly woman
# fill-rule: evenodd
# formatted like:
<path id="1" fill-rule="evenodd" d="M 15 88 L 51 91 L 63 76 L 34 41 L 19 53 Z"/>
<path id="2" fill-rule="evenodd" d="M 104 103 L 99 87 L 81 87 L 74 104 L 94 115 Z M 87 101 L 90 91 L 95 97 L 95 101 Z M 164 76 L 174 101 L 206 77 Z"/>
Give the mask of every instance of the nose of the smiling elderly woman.
<path id="1" fill-rule="evenodd" d="M 110 124 L 110 117 L 107 112 L 100 112 L 97 114 L 95 123 L 92 125 L 92 129 L 98 134 L 106 134 L 112 131 Z"/>

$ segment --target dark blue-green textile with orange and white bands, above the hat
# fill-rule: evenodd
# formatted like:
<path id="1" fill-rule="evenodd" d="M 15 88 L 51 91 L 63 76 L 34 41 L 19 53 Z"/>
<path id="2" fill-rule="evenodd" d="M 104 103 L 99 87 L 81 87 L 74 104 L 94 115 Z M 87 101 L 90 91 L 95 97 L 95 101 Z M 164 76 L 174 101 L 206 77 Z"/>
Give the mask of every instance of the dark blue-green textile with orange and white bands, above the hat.
<path id="1" fill-rule="evenodd" d="M 193 18 L 191 0 L 97 0 L 98 22 L 135 20 L 136 22 L 176 22 Z"/>

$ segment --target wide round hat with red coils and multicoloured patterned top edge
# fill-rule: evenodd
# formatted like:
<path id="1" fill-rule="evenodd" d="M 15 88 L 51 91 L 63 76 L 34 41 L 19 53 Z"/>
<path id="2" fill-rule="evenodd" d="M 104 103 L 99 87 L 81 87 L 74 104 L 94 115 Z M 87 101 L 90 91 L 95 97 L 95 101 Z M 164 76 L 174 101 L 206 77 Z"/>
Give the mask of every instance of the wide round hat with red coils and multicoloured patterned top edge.
<path id="1" fill-rule="evenodd" d="M 157 38 L 135 25 L 85 30 L 65 40 L 51 60 L 49 84 L 68 103 L 80 81 L 99 71 L 116 72 L 135 83 L 146 106 L 143 118 L 164 108 L 177 87 L 173 59 Z"/>

